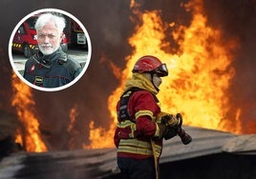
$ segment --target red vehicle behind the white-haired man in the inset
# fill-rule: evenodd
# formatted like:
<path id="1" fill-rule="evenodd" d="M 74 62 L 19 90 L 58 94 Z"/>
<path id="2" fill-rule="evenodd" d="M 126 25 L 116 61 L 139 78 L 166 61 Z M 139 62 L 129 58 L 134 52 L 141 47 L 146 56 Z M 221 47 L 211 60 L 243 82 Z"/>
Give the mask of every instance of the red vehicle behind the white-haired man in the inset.
<path id="1" fill-rule="evenodd" d="M 34 15 L 22 23 L 15 32 L 12 40 L 12 50 L 23 52 L 26 58 L 31 57 L 32 54 L 38 50 L 36 30 L 34 29 L 36 18 L 37 15 Z M 61 48 L 64 51 L 68 50 L 68 40 L 66 36 L 62 40 Z"/>

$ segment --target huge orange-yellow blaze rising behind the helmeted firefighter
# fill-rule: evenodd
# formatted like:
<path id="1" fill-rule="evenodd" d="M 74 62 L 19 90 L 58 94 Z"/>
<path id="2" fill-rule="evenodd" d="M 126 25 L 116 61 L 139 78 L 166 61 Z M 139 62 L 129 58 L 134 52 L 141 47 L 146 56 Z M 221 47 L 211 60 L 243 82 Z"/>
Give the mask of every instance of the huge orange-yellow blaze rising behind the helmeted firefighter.
<path id="1" fill-rule="evenodd" d="M 141 13 L 137 7 L 138 4 L 131 1 L 131 8 L 135 8 L 133 11 L 141 20 L 135 33 L 129 38 L 129 44 L 134 51 L 126 57 L 126 67 L 121 72 L 119 87 L 108 99 L 113 124 L 109 130 L 95 128 L 93 122 L 90 125 L 92 142 L 102 139 L 103 136 L 109 137 L 109 143 L 102 143 L 100 140 L 94 143 L 92 148 L 113 147 L 117 101 L 126 79 L 131 76 L 134 64 L 145 54 L 158 56 L 169 69 L 169 75 L 162 79 L 158 94 L 162 110 L 169 113 L 181 112 L 185 125 L 240 133 L 240 123 L 237 123 L 236 130 L 223 123 L 228 120 L 228 87 L 234 75 L 234 69 L 230 67 L 231 50 L 237 47 L 236 41 L 223 43 L 221 30 L 207 26 L 202 0 L 194 0 L 184 5 L 187 11 L 192 11 L 189 27 L 176 27 L 174 22 L 164 23 L 160 18 L 160 11 Z M 168 27 L 173 29 L 173 39 L 180 46 L 176 53 L 164 50 L 172 47 L 169 42 L 164 41 L 164 31 Z"/>

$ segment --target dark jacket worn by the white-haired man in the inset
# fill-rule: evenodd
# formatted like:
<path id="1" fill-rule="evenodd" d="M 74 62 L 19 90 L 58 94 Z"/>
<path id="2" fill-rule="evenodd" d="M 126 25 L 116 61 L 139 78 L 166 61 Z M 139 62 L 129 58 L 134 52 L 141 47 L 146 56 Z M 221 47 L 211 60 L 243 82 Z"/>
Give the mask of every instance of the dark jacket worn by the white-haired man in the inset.
<path id="1" fill-rule="evenodd" d="M 56 88 L 73 81 L 80 73 L 81 66 L 59 48 L 50 55 L 40 51 L 25 64 L 24 78 L 33 85 Z"/>

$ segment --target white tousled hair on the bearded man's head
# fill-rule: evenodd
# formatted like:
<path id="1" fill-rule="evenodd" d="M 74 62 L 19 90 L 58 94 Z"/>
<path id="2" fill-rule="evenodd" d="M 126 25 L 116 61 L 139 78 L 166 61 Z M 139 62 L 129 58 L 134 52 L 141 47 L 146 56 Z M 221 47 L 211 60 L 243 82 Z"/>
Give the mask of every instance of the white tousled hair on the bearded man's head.
<path id="1" fill-rule="evenodd" d="M 35 30 L 41 30 L 46 24 L 53 22 L 54 27 L 59 33 L 62 33 L 65 26 L 66 20 L 60 15 L 55 15 L 51 12 L 41 14 L 34 25 Z"/>

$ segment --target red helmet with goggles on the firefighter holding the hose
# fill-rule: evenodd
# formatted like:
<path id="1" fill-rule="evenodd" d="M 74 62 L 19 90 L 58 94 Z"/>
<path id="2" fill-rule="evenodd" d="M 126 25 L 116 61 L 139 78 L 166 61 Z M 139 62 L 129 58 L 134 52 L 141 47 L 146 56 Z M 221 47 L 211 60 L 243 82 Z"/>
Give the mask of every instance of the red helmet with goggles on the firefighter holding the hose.
<path id="1" fill-rule="evenodd" d="M 136 62 L 133 72 L 158 73 L 161 77 L 168 75 L 166 64 L 162 64 L 160 59 L 155 56 L 145 55 Z"/>

